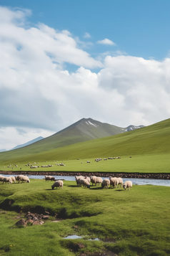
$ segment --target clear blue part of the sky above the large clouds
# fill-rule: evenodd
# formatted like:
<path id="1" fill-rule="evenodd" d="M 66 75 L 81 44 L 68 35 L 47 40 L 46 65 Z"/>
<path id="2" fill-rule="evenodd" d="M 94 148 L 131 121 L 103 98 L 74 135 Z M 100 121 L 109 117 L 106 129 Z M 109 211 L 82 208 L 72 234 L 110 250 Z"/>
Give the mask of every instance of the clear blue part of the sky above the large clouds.
<path id="1" fill-rule="evenodd" d="M 85 42 L 88 52 L 121 51 L 131 56 L 161 60 L 169 54 L 169 0 L 1 0 L 1 6 L 30 9 L 30 24 L 39 22 L 54 29 L 67 29 Z M 84 38 L 89 33 L 90 38 Z M 116 46 L 95 44 L 108 38 Z"/>

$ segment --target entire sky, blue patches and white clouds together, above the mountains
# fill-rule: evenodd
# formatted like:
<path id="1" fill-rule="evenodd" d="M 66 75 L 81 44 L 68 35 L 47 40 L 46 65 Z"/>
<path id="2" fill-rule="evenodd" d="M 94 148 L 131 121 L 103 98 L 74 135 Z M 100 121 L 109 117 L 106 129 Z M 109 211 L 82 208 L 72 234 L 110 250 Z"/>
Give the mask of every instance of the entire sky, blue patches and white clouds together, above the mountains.
<path id="1" fill-rule="evenodd" d="M 169 118 L 169 31 L 169 0 L 0 0 L 0 149 Z"/>

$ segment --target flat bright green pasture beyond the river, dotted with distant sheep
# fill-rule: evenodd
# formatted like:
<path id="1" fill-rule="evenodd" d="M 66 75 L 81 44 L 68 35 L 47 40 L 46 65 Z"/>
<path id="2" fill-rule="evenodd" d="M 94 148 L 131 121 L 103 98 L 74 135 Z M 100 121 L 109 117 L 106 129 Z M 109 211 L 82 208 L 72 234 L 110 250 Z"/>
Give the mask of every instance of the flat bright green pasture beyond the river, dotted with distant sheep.
<path id="1" fill-rule="evenodd" d="M 96 155 L 96 158 L 101 156 Z M 112 155 L 105 156 L 105 158 L 113 157 Z M 95 158 L 84 158 L 80 160 L 48 160 L 44 161 L 30 161 L 30 165 L 39 166 L 39 168 L 31 169 L 30 166 L 26 166 L 28 162 L 4 162 L 0 164 L 1 171 L 72 171 L 72 172 L 128 172 L 128 173 L 170 173 L 170 158 L 169 153 L 159 154 L 146 154 L 146 155 L 134 155 L 131 158 L 129 156 L 121 156 L 121 159 L 108 159 L 104 161 L 94 161 Z M 45 161 L 46 160 L 46 161 Z M 91 163 L 87 163 L 90 161 Z M 58 163 L 64 163 L 65 166 L 58 166 Z M 17 167 L 16 167 L 17 165 Z M 52 167 L 41 167 L 53 165 Z M 8 167 L 9 166 L 9 167 Z"/>

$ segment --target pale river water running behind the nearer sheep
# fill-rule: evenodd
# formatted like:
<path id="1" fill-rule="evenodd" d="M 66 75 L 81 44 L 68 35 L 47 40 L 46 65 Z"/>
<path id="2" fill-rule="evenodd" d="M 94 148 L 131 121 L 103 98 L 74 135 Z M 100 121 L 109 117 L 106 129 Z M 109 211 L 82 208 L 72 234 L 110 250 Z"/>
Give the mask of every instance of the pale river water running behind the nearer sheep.
<path id="1" fill-rule="evenodd" d="M 2 175 L 2 174 L 1 174 Z M 11 175 L 3 175 L 11 176 Z M 17 175 L 12 175 L 17 176 Z M 45 176 L 42 175 L 28 175 L 29 179 L 44 179 Z M 55 179 L 64 179 L 65 181 L 75 181 L 74 176 L 54 176 Z M 108 177 L 102 177 L 102 179 L 108 179 Z M 154 185 L 154 186 L 170 186 L 170 181 L 165 179 L 123 179 L 123 181 L 131 180 L 134 185 Z M 51 182 L 51 181 L 46 181 Z M 51 183 L 52 184 L 52 183 Z"/>

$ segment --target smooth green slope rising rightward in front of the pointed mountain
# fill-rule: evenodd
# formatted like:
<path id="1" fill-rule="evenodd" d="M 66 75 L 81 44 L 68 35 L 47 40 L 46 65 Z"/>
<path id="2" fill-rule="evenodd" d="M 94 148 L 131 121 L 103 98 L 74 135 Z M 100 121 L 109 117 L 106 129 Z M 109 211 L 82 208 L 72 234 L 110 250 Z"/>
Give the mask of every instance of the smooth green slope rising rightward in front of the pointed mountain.
<path id="1" fill-rule="evenodd" d="M 74 133 L 74 136 L 75 133 Z M 51 136 L 52 137 L 52 136 Z M 71 139 L 71 137 L 69 137 Z M 44 140 L 42 140 L 44 141 Z M 39 141 L 38 143 L 41 143 Z M 108 156 L 130 156 L 142 154 L 170 153 L 170 119 L 149 125 L 142 129 L 121 133 L 61 148 L 37 151 L 31 146 L 15 151 L 0 153 L 0 162 L 5 161 L 49 161 L 53 159 L 71 160 L 76 158 L 96 158 Z M 36 143 L 35 143 L 36 144 Z"/>

